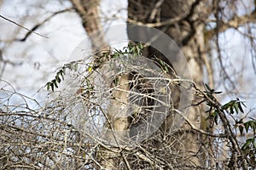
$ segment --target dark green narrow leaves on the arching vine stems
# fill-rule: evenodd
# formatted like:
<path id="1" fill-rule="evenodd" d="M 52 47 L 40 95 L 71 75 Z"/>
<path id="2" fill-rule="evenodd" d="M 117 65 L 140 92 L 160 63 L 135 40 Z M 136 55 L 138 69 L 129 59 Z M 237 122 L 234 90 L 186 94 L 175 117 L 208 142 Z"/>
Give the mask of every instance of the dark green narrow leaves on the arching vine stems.
<path id="1" fill-rule="evenodd" d="M 102 52 L 92 55 L 92 57 L 95 57 L 94 61 L 87 64 L 85 71 L 87 73 L 91 74 L 93 71 L 96 71 L 96 69 L 102 65 L 104 62 L 109 61 L 110 59 L 119 59 L 120 57 L 131 57 L 136 55 L 142 55 L 143 49 L 145 48 L 145 45 L 142 43 L 133 43 L 129 44 L 127 47 L 123 48 L 122 50 L 115 49 L 114 51 L 108 51 L 108 52 Z M 130 55 L 131 54 L 131 55 Z M 57 71 L 55 78 L 47 82 L 46 86 L 48 90 L 54 91 L 55 88 L 58 88 L 59 83 L 64 81 L 64 75 L 66 74 L 67 69 L 70 71 L 78 71 L 79 64 L 82 63 L 82 60 L 79 61 L 73 61 L 71 63 L 68 63 L 61 67 L 59 71 Z M 160 68 L 162 71 L 168 72 L 169 68 L 167 67 L 166 63 L 164 63 L 162 60 L 157 60 L 158 64 L 160 65 Z M 113 83 L 117 85 L 119 83 L 119 77 L 116 77 L 113 80 Z M 84 78 L 84 87 L 86 87 L 86 91 L 88 93 L 93 93 L 94 86 L 91 84 L 90 80 L 88 78 Z M 224 105 L 220 105 L 218 103 L 218 100 L 215 99 L 216 94 L 221 94 L 222 92 L 216 91 L 215 89 L 210 88 L 207 84 L 205 84 L 205 91 L 203 94 L 205 95 L 203 102 L 206 102 L 208 106 L 207 111 L 207 121 L 211 122 L 211 126 L 213 127 L 214 124 L 218 125 L 219 122 L 223 122 L 223 115 L 226 116 L 234 116 L 234 114 L 240 114 L 244 113 L 243 107 L 246 107 L 243 101 L 236 98 L 233 100 L 230 100 Z M 239 144 L 239 150 L 243 153 L 243 159 L 247 160 L 247 163 L 253 167 L 256 165 L 255 161 L 255 155 L 256 155 L 256 121 L 251 118 L 251 120 L 245 122 L 243 119 L 236 120 L 235 124 L 231 124 L 231 121 L 228 121 L 229 126 L 235 126 L 238 128 L 241 135 L 243 133 L 251 133 L 253 132 L 253 138 L 247 138 L 246 141 L 242 144 Z M 212 128 L 211 127 L 211 128 Z M 234 130 L 234 129 L 233 129 Z M 232 133 L 232 132 L 231 132 Z M 229 136 L 227 133 L 224 134 L 226 139 L 229 139 Z M 229 135 L 233 135 L 229 134 Z M 235 136 L 236 141 L 237 136 Z M 236 152 L 236 151 L 235 151 Z"/>

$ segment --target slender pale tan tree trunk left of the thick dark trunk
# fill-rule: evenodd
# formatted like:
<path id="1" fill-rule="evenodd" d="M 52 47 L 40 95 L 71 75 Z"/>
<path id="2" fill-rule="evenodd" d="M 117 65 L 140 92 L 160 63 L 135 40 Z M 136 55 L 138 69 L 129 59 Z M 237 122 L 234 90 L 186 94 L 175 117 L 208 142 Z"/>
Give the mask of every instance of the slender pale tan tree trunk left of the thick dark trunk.
<path id="1" fill-rule="evenodd" d="M 100 0 L 71 0 L 73 7 L 79 14 L 84 30 L 90 37 L 93 51 L 98 50 L 109 50 L 108 42 L 106 42 L 104 33 L 102 31 L 101 19 L 99 14 L 99 3 Z M 95 32 L 96 31 L 96 32 Z M 108 68 L 107 68 L 108 69 Z M 103 75 L 105 76 L 105 75 Z M 108 131 L 105 134 L 105 139 L 114 146 L 119 146 L 123 143 L 123 140 L 127 137 L 125 133 L 129 126 L 128 117 L 126 115 L 126 105 L 128 104 L 128 91 L 129 91 L 129 76 L 123 75 L 116 77 L 115 80 L 118 82 L 111 83 L 112 97 L 110 104 L 108 105 L 108 113 L 106 113 L 105 126 L 108 127 Z M 116 88 L 121 89 L 118 90 Z M 125 92 L 126 91 L 126 92 Z M 102 167 L 106 169 L 115 169 L 118 164 L 116 157 L 118 153 L 101 148 Z"/>

